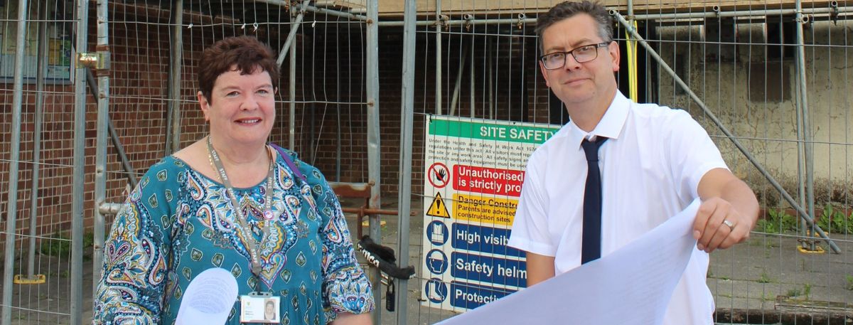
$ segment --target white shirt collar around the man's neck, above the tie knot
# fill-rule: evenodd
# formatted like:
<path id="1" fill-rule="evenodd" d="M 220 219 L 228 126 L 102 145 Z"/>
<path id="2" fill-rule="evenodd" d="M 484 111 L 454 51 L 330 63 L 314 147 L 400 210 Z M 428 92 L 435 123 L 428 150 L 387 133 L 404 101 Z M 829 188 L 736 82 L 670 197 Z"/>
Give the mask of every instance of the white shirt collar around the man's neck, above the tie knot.
<path id="1" fill-rule="evenodd" d="M 569 136 L 569 143 L 572 144 L 572 148 L 580 148 L 584 137 L 589 140 L 594 140 L 595 136 L 618 139 L 622 133 L 622 129 L 624 129 L 625 120 L 628 119 L 628 110 L 631 103 L 627 97 L 622 95 L 622 92 L 616 90 L 616 96 L 613 96 L 610 107 L 607 107 L 607 111 L 601 117 L 598 125 L 595 125 L 595 129 L 589 133 L 581 130 L 581 128 L 575 125 L 573 120 L 570 120 L 568 125 L 570 132 L 567 136 Z"/>

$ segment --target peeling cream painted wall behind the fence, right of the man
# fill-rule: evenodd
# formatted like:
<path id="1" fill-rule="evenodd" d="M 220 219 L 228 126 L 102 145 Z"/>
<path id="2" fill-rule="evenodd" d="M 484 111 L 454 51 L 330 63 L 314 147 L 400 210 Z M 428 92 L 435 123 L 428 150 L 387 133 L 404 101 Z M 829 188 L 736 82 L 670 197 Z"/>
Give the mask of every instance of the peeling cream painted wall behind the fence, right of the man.
<path id="1" fill-rule="evenodd" d="M 778 46 L 764 37 L 764 24 L 739 24 L 734 43 L 703 39 L 701 22 L 659 27 L 659 54 L 705 102 L 757 161 L 796 197 L 798 180 L 798 79 L 796 60 L 769 58 Z M 853 181 L 853 23 L 815 21 L 804 29 L 806 93 L 814 141 L 815 192 L 826 201 Z M 728 48 L 728 49 L 727 49 Z M 717 53 L 734 54 L 725 59 Z M 682 107 L 714 137 L 734 173 L 763 182 L 734 147 L 670 76 L 659 72 L 659 102 Z M 766 185 L 766 184 L 765 184 Z M 824 193 L 827 192 L 827 193 Z M 847 196 L 844 196 L 847 197 Z M 849 197 L 845 200 L 850 200 Z M 849 204 L 849 202 L 847 202 Z"/>

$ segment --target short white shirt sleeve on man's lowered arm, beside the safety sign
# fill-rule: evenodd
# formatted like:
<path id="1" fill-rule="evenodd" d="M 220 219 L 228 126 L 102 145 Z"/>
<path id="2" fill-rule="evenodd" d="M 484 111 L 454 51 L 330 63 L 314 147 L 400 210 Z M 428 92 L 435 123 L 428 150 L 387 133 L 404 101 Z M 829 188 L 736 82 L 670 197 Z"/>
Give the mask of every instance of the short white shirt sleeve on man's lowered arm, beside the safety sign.
<path id="1" fill-rule="evenodd" d="M 554 256 L 557 247 L 548 234 L 548 195 L 539 175 L 537 153 L 527 162 L 524 185 L 521 187 L 519 206 L 515 210 L 513 230 L 508 246 L 544 256 Z"/>

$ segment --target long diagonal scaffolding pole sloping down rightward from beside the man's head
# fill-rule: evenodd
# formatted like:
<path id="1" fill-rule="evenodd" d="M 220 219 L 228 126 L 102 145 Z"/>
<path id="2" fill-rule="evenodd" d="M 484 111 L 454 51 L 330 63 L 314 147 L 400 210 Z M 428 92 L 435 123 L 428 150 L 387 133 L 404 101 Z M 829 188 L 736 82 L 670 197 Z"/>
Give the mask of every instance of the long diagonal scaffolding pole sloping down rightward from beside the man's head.
<path id="1" fill-rule="evenodd" d="M 690 90 L 688 84 L 684 83 L 684 80 L 682 80 L 682 78 L 679 77 L 678 74 L 676 74 L 676 72 L 672 70 L 672 67 L 670 67 L 670 65 L 668 65 L 666 61 L 664 61 L 664 59 L 660 57 L 660 55 L 658 55 L 658 52 L 656 52 L 652 48 L 652 46 L 649 45 L 648 42 L 646 42 L 646 39 L 642 38 L 640 34 L 636 32 L 634 26 L 631 26 L 628 20 L 625 20 L 625 17 L 619 14 L 618 11 L 611 10 L 610 14 L 616 17 L 616 19 L 619 21 L 619 24 L 621 24 L 625 29 L 628 30 L 628 32 L 630 32 L 631 36 L 635 38 L 635 40 L 647 50 L 648 54 L 651 55 L 652 58 L 658 62 L 660 67 L 663 68 L 664 71 L 669 74 L 670 77 L 673 78 L 673 80 L 676 81 L 676 84 L 681 86 L 682 89 L 688 93 L 690 98 L 693 99 L 693 102 L 696 102 L 696 104 L 699 105 L 700 108 L 702 108 L 702 112 L 704 112 L 705 115 L 707 115 L 708 118 L 711 119 L 712 122 L 714 122 L 714 125 L 717 125 L 717 127 L 728 138 L 728 140 L 731 141 L 732 144 L 734 144 L 734 147 L 738 148 L 738 150 L 740 150 L 740 153 L 744 154 L 746 159 L 749 160 L 759 172 L 761 172 L 762 176 L 766 178 L 768 182 L 780 192 L 780 194 L 782 194 L 782 197 L 788 202 L 788 204 L 790 204 L 795 210 L 797 210 L 798 213 L 800 213 L 800 217 L 804 218 L 805 222 L 809 223 L 809 226 L 814 227 L 815 231 L 821 235 L 821 238 L 827 241 L 827 244 L 830 248 L 832 248 L 833 252 L 840 253 L 841 249 L 838 248 L 838 245 L 835 244 L 835 241 L 830 239 L 829 236 L 827 236 L 827 233 L 825 233 L 823 229 L 821 229 L 817 226 L 817 224 L 815 224 L 814 219 L 811 218 L 809 213 L 804 210 L 803 206 L 799 205 L 797 201 L 791 197 L 791 194 L 788 194 L 788 192 L 784 188 L 782 188 L 782 185 L 780 185 L 779 182 L 776 182 L 776 179 L 770 175 L 770 173 L 763 167 L 763 165 L 761 165 L 761 163 L 758 162 L 758 160 L 756 160 L 755 157 L 753 157 L 748 150 L 746 150 L 743 144 L 740 143 L 740 141 L 734 137 L 734 134 L 731 131 L 728 131 L 726 125 L 723 125 L 722 121 L 717 118 L 717 114 L 711 112 L 711 109 L 709 109 L 708 106 L 705 105 L 705 102 L 702 102 L 702 100 L 699 99 L 699 96 L 697 96 L 696 93 L 693 92 L 693 90 Z"/>

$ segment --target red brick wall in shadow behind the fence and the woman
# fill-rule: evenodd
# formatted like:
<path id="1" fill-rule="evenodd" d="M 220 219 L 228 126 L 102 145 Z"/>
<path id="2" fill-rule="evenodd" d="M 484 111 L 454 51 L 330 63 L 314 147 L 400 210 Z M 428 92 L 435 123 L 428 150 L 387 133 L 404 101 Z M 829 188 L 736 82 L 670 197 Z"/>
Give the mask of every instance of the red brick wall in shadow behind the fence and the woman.
<path id="1" fill-rule="evenodd" d="M 94 9 L 90 16 L 90 50 L 94 49 L 96 28 Z M 139 11 L 115 9 L 110 13 L 110 117 L 125 153 L 131 160 L 136 177 L 165 155 L 166 107 L 169 66 L 169 26 L 165 15 L 143 15 Z M 210 19 L 207 17 L 206 19 Z M 317 20 L 324 20 L 317 17 Z M 308 20 L 311 21 L 311 20 Z M 207 26 L 204 26 L 207 23 Z M 200 50 L 223 35 L 247 32 L 241 26 L 210 24 L 183 30 L 183 69 L 181 84 L 181 145 L 186 146 L 206 135 L 206 123 L 200 117 L 195 102 L 196 61 Z M 212 26 L 211 26 L 212 25 Z M 458 28 L 458 27 L 457 27 Z M 287 38 L 287 26 L 258 29 L 258 37 L 271 43 L 276 52 Z M 471 42 L 460 31 L 450 31 L 444 38 L 443 90 L 444 113 L 448 113 L 456 71 L 460 67 L 461 42 Z M 476 31 L 475 31 L 476 32 Z M 520 120 L 526 110 L 531 121 L 546 122 L 547 89 L 538 76 L 535 64 L 535 38 L 525 38 L 516 29 L 484 30 L 514 36 L 486 36 L 473 39 L 475 55 L 475 107 L 476 117 L 485 117 L 488 103 L 486 50 L 493 51 L 495 105 L 497 119 Z M 273 40 L 273 41 L 269 41 Z M 341 182 L 367 182 L 367 111 L 363 102 L 365 53 L 363 26 L 318 22 L 305 24 L 297 38 L 296 55 L 296 148 L 303 160 L 316 165 L 328 180 Z M 412 148 L 412 185 L 415 196 L 421 194 L 423 178 L 424 121 L 427 113 L 435 112 L 435 53 L 434 34 L 421 29 L 417 34 L 415 55 L 415 128 Z M 380 129 L 381 129 L 381 183 L 383 195 L 397 198 L 399 182 L 400 105 L 403 72 L 403 31 L 397 27 L 380 28 Z M 277 127 L 271 140 L 287 146 L 289 119 L 288 64 L 281 69 L 277 95 Z M 463 116 L 470 113 L 469 74 L 463 73 L 460 108 Z M 9 159 L 11 141 L 12 84 L 0 84 L 0 215 L 6 219 L 9 190 Z M 525 91 L 525 88 L 528 89 Z M 33 90 L 33 84 L 26 84 Z M 38 229 L 49 235 L 70 229 L 72 202 L 73 158 L 73 85 L 49 85 L 45 92 L 44 125 L 39 177 Z M 35 95 L 26 92 L 23 107 L 20 142 L 20 172 L 18 192 L 19 233 L 28 233 L 29 198 L 32 188 L 32 137 L 34 129 Z M 93 215 L 92 191 L 94 189 L 96 107 L 94 98 L 86 109 L 85 123 L 85 212 L 86 225 L 90 227 Z M 338 136 L 340 140 L 338 140 Z M 337 154 L 338 144 L 340 156 Z M 107 156 L 107 201 L 125 199 L 126 180 L 116 156 L 109 146 Z M 339 160 L 339 163 L 338 163 Z M 337 166 L 340 166 L 339 177 Z M 387 200 L 387 199 L 386 199 Z M 0 225 L 5 229 L 5 225 Z"/>

